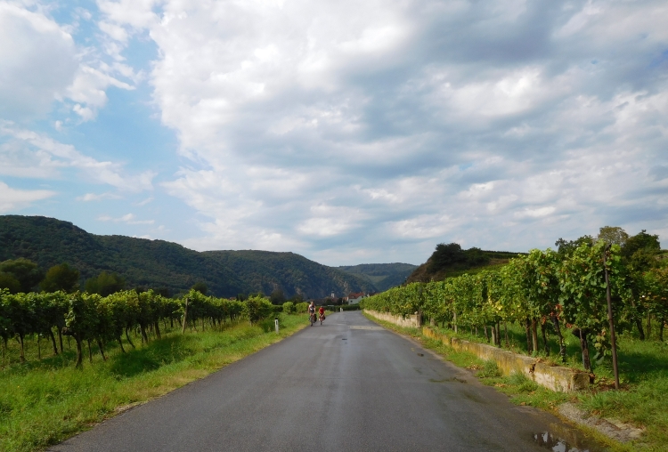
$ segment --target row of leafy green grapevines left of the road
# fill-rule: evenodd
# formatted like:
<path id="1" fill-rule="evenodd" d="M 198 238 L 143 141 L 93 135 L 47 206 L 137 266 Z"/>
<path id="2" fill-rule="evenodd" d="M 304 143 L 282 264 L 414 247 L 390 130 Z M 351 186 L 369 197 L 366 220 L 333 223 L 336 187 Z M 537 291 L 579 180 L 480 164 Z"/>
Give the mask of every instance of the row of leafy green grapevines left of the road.
<path id="1" fill-rule="evenodd" d="M 37 336 L 50 340 L 53 354 L 63 351 L 62 337 L 70 336 L 77 346 L 77 367 L 82 365 L 83 344 L 97 345 L 106 359 L 105 346 L 118 343 L 126 352 L 123 338 L 134 348 L 130 332 L 137 332 L 142 343 L 160 339 L 160 326 L 198 330 L 222 327 L 230 321 L 245 317 L 251 324 L 271 316 L 272 303 L 263 296 L 251 296 L 244 302 L 206 296 L 192 289 L 180 299 L 166 298 L 153 290 L 129 290 L 105 297 L 85 292 L 32 292 L 11 294 L 0 289 L 0 337 L 3 340 L 3 363 L 10 339 L 20 347 L 20 360 L 25 361 L 25 340 Z M 59 347 L 60 346 L 60 347 Z"/>

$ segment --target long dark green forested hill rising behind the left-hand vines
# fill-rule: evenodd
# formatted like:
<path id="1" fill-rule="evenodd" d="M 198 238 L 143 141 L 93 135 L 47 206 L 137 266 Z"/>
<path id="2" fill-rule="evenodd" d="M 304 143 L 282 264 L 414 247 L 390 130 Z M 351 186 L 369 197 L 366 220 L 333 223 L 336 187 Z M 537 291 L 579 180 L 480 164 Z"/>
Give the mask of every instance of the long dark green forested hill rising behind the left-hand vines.
<path id="1" fill-rule="evenodd" d="M 309 261 L 293 253 L 268 251 L 197 252 L 164 240 L 97 236 L 42 216 L 0 216 L 0 262 L 24 257 L 42 270 L 67 262 L 81 282 L 102 270 L 126 279 L 126 287 L 165 287 L 173 294 L 196 282 L 217 296 L 279 288 L 284 295 L 322 298 L 335 292 L 376 290 L 368 279 Z"/>

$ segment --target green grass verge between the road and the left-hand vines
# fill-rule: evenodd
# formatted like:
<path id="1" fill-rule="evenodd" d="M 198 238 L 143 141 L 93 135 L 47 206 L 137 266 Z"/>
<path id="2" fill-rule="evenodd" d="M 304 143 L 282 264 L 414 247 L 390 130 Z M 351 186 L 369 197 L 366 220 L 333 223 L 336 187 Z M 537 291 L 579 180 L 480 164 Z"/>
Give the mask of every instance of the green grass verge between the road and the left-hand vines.
<path id="1" fill-rule="evenodd" d="M 73 365 L 74 351 L 41 360 L 29 354 L 27 363 L 0 371 L 0 450 L 46 448 L 308 325 L 305 315 L 280 319 L 278 335 L 272 319 L 253 327 L 243 321 L 184 335 L 175 328 L 145 346 L 135 338 L 136 350 L 121 353 L 110 348 L 106 361 L 94 355 L 81 369 Z M 43 356 L 47 352 L 42 349 Z"/>

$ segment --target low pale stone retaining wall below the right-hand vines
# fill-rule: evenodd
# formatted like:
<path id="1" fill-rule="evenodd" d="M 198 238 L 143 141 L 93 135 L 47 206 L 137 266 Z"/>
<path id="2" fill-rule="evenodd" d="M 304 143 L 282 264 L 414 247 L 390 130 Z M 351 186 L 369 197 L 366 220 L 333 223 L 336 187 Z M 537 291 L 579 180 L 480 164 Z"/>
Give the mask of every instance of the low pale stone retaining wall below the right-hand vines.
<path id="1" fill-rule="evenodd" d="M 365 312 L 376 319 L 385 320 L 400 327 L 419 326 L 418 316 L 403 319 L 401 316 L 393 316 L 382 312 L 366 310 Z M 502 350 L 486 343 L 472 343 L 457 337 L 443 335 L 430 327 L 422 327 L 422 334 L 450 345 L 454 350 L 468 351 L 482 359 L 492 359 L 503 375 L 521 373 L 552 391 L 577 391 L 586 388 L 589 384 L 589 374 L 568 367 L 549 366 L 539 359 L 518 355 L 512 351 Z"/>

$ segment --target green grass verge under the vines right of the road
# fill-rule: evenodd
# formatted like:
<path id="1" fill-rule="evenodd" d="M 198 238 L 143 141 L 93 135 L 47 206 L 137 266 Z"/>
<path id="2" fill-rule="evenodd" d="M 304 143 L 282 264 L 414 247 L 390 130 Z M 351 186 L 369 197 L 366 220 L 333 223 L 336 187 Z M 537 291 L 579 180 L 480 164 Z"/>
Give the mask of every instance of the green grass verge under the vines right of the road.
<path id="1" fill-rule="evenodd" d="M 618 359 L 622 389 L 620 391 L 611 389 L 612 369 L 609 364 L 604 363 L 594 369 L 597 378 L 596 383 L 591 385 L 590 389 L 565 394 L 542 388 L 523 375 L 501 376 L 494 363 L 479 359 L 472 353 L 454 351 L 444 343 L 430 340 L 421 335 L 418 328 L 397 327 L 371 316 L 367 318 L 403 335 L 411 335 L 420 340 L 426 348 L 436 351 L 453 364 L 474 371 L 483 383 L 492 385 L 498 391 L 508 394 L 510 399 L 518 405 L 534 406 L 557 414 L 557 407 L 560 404 L 571 402 L 591 415 L 618 419 L 646 429 L 642 438 L 625 445 L 593 433 L 611 450 L 660 451 L 666 449 L 666 444 L 668 444 L 668 409 L 666 409 L 665 401 L 665 394 L 668 394 L 668 345 L 666 343 L 644 342 L 632 337 L 620 337 Z M 523 339 L 524 331 L 521 331 L 520 335 L 519 332 L 510 329 L 509 341 L 511 345 L 514 341 L 513 348 L 521 352 L 520 339 Z M 452 335 L 451 331 L 447 333 Z M 475 333 L 473 335 L 460 333 L 458 336 L 463 339 L 485 342 L 484 337 L 477 336 Z M 503 333 L 501 336 L 503 337 Z M 579 350 L 574 341 L 569 343 L 568 347 L 577 347 Z M 551 359 L 556 359 L 556 351 L 553 350 L 550 353 Z M 569 351 L 569 356 L 574 355 L 575 353 Z M 577 359 L 569 359 L 566 365 L 582 368 L 582 363 Z"/>

